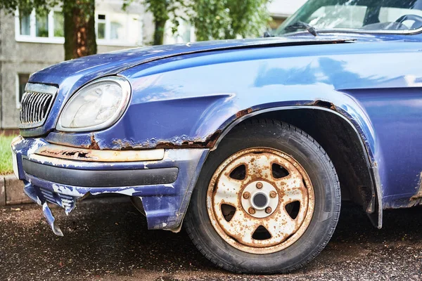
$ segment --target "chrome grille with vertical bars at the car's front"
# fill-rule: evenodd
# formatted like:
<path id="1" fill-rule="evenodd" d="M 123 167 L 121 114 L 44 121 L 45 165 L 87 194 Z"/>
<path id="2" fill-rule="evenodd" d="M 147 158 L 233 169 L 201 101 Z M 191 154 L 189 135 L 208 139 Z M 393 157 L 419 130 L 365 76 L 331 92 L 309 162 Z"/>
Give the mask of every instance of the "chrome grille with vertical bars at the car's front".
<path id="1" fill-rule="evenodd" d="M 20 128 L 42 126 L 49 114 L 56 93 L 55 86 L 28 83 L 20 102 Z"/>

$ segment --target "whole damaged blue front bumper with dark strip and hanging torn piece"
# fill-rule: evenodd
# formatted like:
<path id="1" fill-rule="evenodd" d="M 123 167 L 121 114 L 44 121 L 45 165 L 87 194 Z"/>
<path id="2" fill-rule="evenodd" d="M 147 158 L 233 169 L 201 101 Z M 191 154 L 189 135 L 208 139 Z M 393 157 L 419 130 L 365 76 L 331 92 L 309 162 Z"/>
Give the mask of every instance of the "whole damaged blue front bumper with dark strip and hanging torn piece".
<path id="1" fill-rule="evenodd" d="M 82 197 L 105 193 L 139 197 L 148 229 L 179 229 L 208 150 L 89 150 L 18 136 L 12 152 L 26 195 L 63 235 L 47 203 L 69 214 Z"/>

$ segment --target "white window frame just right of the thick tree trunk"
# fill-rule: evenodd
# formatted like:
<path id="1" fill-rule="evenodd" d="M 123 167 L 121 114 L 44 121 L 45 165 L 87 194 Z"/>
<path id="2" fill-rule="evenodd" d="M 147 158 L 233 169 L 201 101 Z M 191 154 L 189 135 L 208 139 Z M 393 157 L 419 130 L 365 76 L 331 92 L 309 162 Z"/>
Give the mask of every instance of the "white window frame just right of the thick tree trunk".
<path id="1" fill-rule="evenodd" d="M 131 18 L 138 18 L 139 24 L 139 34 L 138 34 L 138 42 L 133 44 L 132 42 L 128 41 L 122 41 L 120 39 L 110 39 L 110 12 L 106 11 L 96 11 L 95 12 L 95 34 L 97 36 L 98 34 L 98 15 L 106 15 L 106 20 L 101 20 L 101 22 L 106 22 L 106 30 L 105 30 L 105 39 L 96 39 L 98 45 L 103 46 L 124 46 L 124 47 L 137 47 L 137 46 L 143 46 L 143 21 L 141 15 L 138 14 L 130 14 L 130 13 L 124 13 L 127 18 L 126 25 L 129 25 L 129 19 Z"/>

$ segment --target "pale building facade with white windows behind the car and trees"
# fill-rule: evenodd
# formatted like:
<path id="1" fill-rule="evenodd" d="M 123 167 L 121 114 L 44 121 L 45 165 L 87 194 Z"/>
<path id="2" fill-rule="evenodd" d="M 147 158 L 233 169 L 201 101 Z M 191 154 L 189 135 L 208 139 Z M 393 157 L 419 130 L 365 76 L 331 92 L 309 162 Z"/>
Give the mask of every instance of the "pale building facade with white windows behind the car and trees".
<path id="1" fill-rule="evenodd" d="M 275 0 L 269 11 L 276 24 L 305 0 Z M 122 11 L 122 0 L 96 1 L 96 37 L 98 53 L 151 44 L 153 17 L 141 4 L 133 3 Z M 48 15 L 10 15 L 0 11 L 0 129 L 16 129 L 20 99 L 30 74 L 63 61 L 63 14 L 60 8 Z M 181 22 L 176 35 L 170 25 L 165 44 L 195 41 L 188 22 Z"/>

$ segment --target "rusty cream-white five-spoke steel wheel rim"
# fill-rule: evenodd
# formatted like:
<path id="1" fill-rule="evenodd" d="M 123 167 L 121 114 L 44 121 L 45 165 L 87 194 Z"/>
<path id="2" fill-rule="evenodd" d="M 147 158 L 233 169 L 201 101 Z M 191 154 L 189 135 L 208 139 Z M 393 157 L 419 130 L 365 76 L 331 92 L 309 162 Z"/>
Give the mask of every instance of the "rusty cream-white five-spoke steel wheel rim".
<path id="1" fill-rule="evenodd" d="M 305 233 L 314 213 L 314 188 L 293 157 L 273 148 L 250 148 L 217 168 L 207 190 L 207 211 L 231 246 L 270 254 Z"/>

